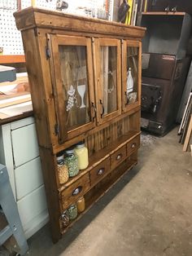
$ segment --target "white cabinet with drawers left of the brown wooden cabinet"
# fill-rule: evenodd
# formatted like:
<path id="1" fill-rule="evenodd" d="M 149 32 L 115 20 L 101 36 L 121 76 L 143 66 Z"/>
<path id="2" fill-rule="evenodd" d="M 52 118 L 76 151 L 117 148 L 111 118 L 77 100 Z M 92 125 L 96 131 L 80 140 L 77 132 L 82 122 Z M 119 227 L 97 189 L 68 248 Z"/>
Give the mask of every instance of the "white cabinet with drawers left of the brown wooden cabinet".
<path id="1" fill-rule="evenodd" d="M 25 236 L 28 238 L 48 222 L 33 117 L 1 126 L 0 163 L 7 166 Z"/>

